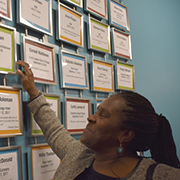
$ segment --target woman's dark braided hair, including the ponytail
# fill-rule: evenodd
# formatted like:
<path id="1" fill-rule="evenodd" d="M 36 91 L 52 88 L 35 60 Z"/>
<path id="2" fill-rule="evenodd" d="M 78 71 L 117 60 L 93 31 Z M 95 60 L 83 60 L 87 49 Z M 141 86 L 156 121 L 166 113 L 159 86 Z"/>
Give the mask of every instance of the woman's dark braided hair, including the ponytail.
<path id="1" fill-rule="evenodd" d="M 132 152 L 150 150 L 152 159 L 180 168 L 176 146 L 168 120 L 156 114 L 151 103 L 136 92 L 123 91 L 115 96 L 125 101 L 122 110 L 123 128 L 134 130 L 135 136 L 128 143 Z"/>

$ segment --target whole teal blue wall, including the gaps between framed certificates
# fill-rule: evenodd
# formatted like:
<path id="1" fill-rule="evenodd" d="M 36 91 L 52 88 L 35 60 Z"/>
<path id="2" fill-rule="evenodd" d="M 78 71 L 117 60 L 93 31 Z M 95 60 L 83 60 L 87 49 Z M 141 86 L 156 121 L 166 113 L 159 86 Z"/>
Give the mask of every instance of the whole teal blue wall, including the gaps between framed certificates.
<path id="1" fill-rule="evenodd" d="M 56 33 L 56 0 L 53 2 L 53 34 Z M 16 4 L 17 0 L 12 0 L 13 21 L 5 21 L 7 25 L 15 27 L 17 33 L 17 59 L 23 59 L 20 50 L 19 37 L 25 32 L 23 26 L 16 23 Z M 130 34 L 132 35 L 132 54 L 133 60 L 129 61 L 135 65 L 136 91 L 146 96 L 153 104 L 157 113 L 162 113 L 170 121 L 172 126 L 174 139 L 177 145 L 178 156 L 180 158 L 180 141 L 179 141 L 179 102 L 180 102 L 180 1 L 179 0 L 124 0 L 124 5 L 128 7 Z M 92 59 L 91 51 L 87 49 L 87 13 L 83 9 L 77 8 L 77 11 L 84 14 L 84 48 L 79 49 L 81 55 L 87 56 L 89 75 L 90 62 Z M 41 38 L 38 32 L 30 30 L 33 36 Z M 61 45 L 60 41 L 56 41 L 55 36 L 49 37 L 49 42 L 57 46 Z M 74 47 L 65 44 L 67 50 L 75 52 Z M 59 48 L 61 50 L 61 48 Z M 95 56 L 103 59 L 101 53 Z M 64 120 L 64 89 L 60 88 L 60 72 L 59 72 L 59 55 L 56 53 L 56 70 L 58 76 L 57 86 L 49 86 L 49 93 L 59 94 L 61 96 L 62 120 Z M 107 61 L 115 64 L 116 58 L 107 55 Z M 3 85 L 3 76 L 0 75 L 0 85 Z M 7 86 L 21 87 L 18 76 L 6 75 Z M 45 86 L 36 84 L 38 90 L 45 91 Z M 107 93 L 98 93 L 101 98 L 107 97 Z M 68 96 L 79 97 L 78 90 L 68 90 Z M 90 98 L 95 104 L 95 93 L 85 90 L 83 98 Z M 23 92 L 23 100 L 27 101 L 28 96 Z M 93 110 L 92 110 L 93 112 Z M 24 106 L 24 135 L 20 137 L 10 138 L 11 145 L 21 145 L 22 147 L 22 165 L 23 179 L 31 179 L 30 164 L 30 145 L 34 144 L 34 138 L 27 133 L 29 120 L 29 112 Z M 79 136 L 75 136 L 79 138 Z M 38 143 L 44 143 L 44 137 L 37 138 Z M 7 138 L 0 140 L 0 147 L 7 146 Z"/>

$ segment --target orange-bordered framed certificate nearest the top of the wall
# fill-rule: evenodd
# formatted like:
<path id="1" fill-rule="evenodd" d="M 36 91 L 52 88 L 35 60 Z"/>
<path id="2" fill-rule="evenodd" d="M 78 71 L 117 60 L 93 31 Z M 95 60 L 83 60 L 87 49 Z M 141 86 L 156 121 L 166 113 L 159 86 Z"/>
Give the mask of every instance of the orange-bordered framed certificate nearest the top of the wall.
<path id="1" fill-rule="evenodd" d="M 73 44 L 75 46 L 83 47 L 83 15 L 69 8 L 68 6 L 65 6 L 62 3 L 58 3 L 57 20 L 57 39 Z"/>

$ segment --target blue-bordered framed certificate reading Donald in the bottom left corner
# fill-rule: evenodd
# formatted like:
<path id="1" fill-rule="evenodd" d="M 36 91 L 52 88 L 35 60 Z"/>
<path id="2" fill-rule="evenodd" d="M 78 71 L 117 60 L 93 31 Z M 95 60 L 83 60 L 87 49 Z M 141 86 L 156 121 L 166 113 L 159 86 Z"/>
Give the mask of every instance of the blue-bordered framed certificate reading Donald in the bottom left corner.
<path id="1" fill-rule="evenodd" d="M 0 148 L 0 179 L 22 180 L 21 146 Z"/>

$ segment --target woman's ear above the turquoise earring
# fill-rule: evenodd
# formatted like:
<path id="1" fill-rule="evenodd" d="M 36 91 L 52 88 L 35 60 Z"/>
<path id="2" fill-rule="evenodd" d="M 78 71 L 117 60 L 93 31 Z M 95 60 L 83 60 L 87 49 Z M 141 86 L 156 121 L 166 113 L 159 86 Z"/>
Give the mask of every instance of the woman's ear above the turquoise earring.
<path id="1" fill-rule="evenodd" d="M 119 135 L 119 142 L 129 142 L 131 141 L 135 136 L 135 132 L 133 130 L 122 130 Z"/>

